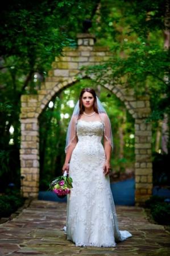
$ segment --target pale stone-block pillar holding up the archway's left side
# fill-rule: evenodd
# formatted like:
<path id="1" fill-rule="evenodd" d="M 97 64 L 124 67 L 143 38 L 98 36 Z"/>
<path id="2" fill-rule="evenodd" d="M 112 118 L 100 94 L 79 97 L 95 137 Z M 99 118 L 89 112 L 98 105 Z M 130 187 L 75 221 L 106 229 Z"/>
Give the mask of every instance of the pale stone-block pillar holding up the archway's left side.
<path id="1" fill-rule="evenodd" d="M 36 96 L 21 97 L 20 142 L 21 192 L 24 197 L 38 197 L 39 192 L 39 124 Z M 31 117 L 30 117 L 31 116 Z"/>

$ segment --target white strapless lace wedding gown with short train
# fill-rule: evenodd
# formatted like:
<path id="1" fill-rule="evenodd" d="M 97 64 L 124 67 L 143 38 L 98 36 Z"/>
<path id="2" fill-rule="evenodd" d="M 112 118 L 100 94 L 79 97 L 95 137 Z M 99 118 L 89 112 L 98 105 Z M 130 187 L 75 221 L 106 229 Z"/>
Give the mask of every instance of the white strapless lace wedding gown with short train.
<path id="1" fill-rule="evenodd" d="M 102 121 L 77 121 L 78 142 L 69 175 L 73 188 L 67 203 L 67 239 L 76 246 L 113 247 L 132 235 L 118 229 L 109 175 L 103 174 Z"/>

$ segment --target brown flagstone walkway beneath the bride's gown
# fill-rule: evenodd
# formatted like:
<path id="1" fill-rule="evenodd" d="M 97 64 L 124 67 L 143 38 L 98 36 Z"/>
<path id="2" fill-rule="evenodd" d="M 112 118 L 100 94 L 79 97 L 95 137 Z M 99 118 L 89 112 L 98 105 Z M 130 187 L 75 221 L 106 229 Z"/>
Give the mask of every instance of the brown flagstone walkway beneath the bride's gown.
<path id="1" fill-rule="evenodd" d="M 170 255 L 169 233 L 148 222 L 143 208 L 116 208 L 119 229 L 131 232 L 131 238 L 112 248 L 76 247 L 61 230 L 66 204 L 31 201 L 13 220 L 0 225 L 0 255 Z"/>

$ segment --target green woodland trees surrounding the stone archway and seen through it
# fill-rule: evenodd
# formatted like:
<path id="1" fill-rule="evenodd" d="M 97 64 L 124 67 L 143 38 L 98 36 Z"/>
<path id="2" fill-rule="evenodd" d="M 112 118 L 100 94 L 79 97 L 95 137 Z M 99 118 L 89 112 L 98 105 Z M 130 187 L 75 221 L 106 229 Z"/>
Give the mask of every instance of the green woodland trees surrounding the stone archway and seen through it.
<path id="1" fill-rule="evenodd" d="M 36 94 L 63 47 L 76 47 L 76 34 L 84 31 L 85 19 L 92 20 L 89 32 L 96 35 L 96 44 L 109 46 L 113 58 L 105 65 L 88 69 L 96 73 L 97 81 L 80 80 L 61 91 L 53 97 L 53 107 L 47 106 L 41 114 L 40 189 L 47 189 L 49 180 L 61 172 L 69 121 L 62 114 L 71 116 L 68 101 L 75 103 L 85 86 L 96 88 L 109 113 L 114 135 L 113 170 L 133 170 L 135 140 L 130 134 L 134 134 L 134 120 L 123 103 L 103 89 L 106 81 L 132 87 L 136 95 L 150 95 L 152 113 L 147 121 L 153 127 L 154 183 L 168 184 L 170 168 L 168 161 L 164 162 L 169 157 L 168 12 L 168 1 L 163 0 L 3 2 L 0 13 L 1 192 L 10 183 L 16 188 L 20 186 L 20 96 Z M 112 71 L 109 77 L 105 77 L 107 68 Z M 14 133 L 10 132 L 11 126 Z"/>

